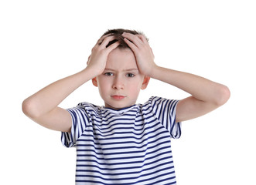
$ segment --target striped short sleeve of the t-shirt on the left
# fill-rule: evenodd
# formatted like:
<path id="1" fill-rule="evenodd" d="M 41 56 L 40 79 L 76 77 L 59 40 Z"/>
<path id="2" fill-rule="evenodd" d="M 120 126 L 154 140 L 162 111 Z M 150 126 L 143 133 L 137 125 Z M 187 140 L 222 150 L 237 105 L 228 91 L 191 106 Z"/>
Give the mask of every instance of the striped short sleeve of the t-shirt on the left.
<path id="1" fill-rule="evenodd" d="M 76 146 L 78 138 L 84 133 L 84 130 L 89 122 L 85 109 L 80 106 L 67 109 L 72 117 L 72 126 L 70 133 L 61 133 L 61 142 L 66 147 Z"/>

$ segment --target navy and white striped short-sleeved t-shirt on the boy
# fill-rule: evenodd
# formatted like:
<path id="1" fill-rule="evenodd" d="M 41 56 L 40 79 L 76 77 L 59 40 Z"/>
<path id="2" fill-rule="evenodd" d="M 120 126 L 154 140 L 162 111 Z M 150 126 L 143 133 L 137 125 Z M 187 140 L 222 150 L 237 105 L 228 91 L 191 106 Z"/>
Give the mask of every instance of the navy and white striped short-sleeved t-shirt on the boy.
<path id="1" fill-rule="evenodd" d="M 179 138 L 177 100 L 110 109 L 79 103 L 64 146 L 77 148 L 76 184 L 176 184 L 171 138 Z"/>

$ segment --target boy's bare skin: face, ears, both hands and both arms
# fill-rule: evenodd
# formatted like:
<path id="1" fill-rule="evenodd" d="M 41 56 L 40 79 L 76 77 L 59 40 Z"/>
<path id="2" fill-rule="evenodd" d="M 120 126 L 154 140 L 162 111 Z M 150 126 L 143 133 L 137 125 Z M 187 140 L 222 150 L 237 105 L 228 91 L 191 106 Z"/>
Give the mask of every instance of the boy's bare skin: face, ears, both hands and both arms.
<path id="1" fill-rule="evenodd" d="M 157 66 L 152 49 L 143 35 L 124 33 L 123 36 L 131 49 L 117 49 L 118 42 L 106 48 L 114 37 L 104 35 L 92 49 L 87 68 L 53 82 L 23 101 L 22 110 L 26 116 L 51 130 L 70 132 L 70 113 L 58 105 L 90 79 L 94 86 L 98 86 L 105 106 L 112 109 L 135 104 L 140 89 L 146 88 L 150 78 L 183 89 L 191 96 L 179 101 L 176 122 L 203 116 L 229 99 L 227 86 Z"/>

